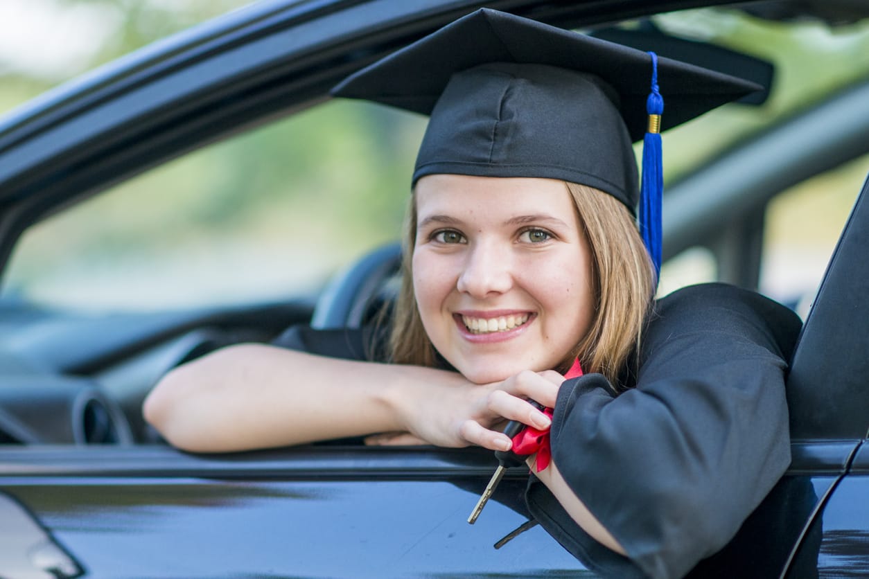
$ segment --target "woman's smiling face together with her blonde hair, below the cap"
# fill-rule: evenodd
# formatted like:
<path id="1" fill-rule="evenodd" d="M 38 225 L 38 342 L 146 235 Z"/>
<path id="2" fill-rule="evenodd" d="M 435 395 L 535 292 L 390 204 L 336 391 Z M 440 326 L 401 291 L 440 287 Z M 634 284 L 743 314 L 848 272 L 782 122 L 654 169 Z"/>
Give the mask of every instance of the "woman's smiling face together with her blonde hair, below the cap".
<path id="1" fill-rule="evenodd" d="M 653 273 L 634 218 L 587 186 L 423 177 L 405 245 L 414 247 L 411 274 L 391 340 L 401 363 L 435 365 L 441 352 L 485 384 L 522 370 L 566 372 L 581 355 L 588 371 L 616 382 L 647 315 Z"/>

